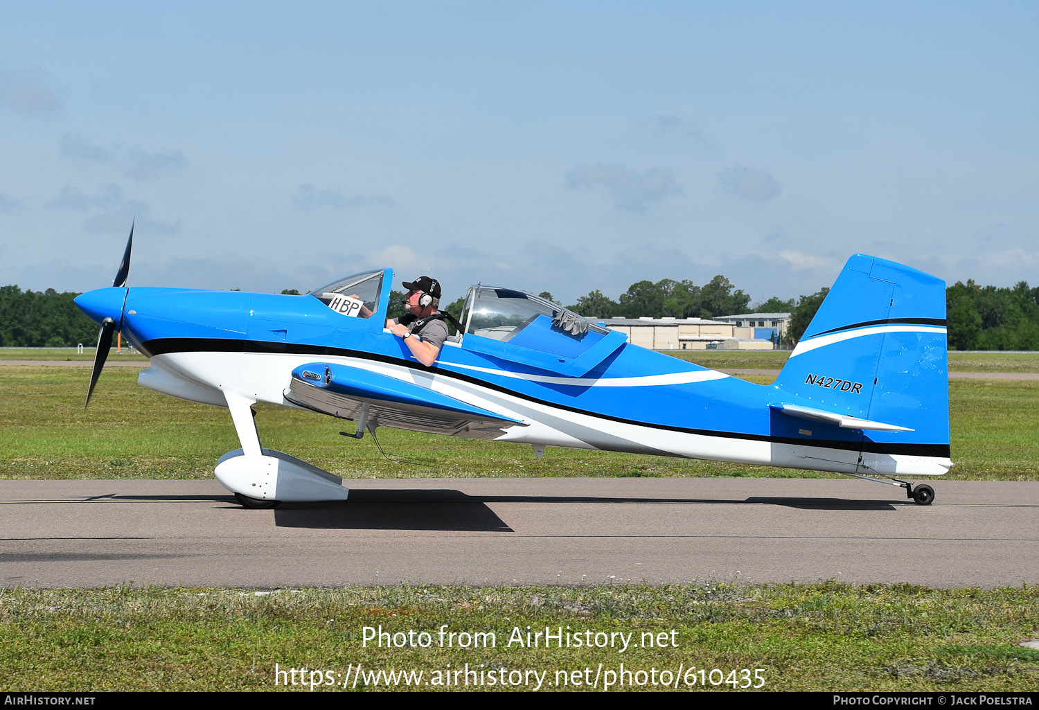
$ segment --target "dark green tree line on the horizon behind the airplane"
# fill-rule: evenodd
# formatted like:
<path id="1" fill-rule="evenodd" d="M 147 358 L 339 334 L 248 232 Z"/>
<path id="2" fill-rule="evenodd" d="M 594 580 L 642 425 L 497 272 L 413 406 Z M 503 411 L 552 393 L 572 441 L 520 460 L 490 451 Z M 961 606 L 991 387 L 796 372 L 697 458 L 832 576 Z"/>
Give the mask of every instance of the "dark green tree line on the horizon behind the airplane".
<path id="1" fill-rule="evenodd" d="M 772 297 L 750 306 L 750 297 L 717 275 L 697 286 L 691 281 L 639 281 L 614 300 L 591 291 L 566 308 L 589 318 L 712 318 L 754 311 L 790 313 L 789 343 L 804 334 L 829 289 L 783 300 Z M 283 293 L 293 293 L 287 289 Z M 23 291 L 0 286 L 0 347 L 71 347 L 97 342 L 98 325 L 76 308 L 78 293 Z M 555 300 L 551 293 L 541 296 Z M 403 313 L 404 294 L 391 294 L 391 317 Z M 442 306 L 461 315 L 462 298 Z M 949 347 L 956 350 L 1039 350 L 1039 287 L 1020 282 L 1013 288 L 957 282 L 945 289 Z"/>

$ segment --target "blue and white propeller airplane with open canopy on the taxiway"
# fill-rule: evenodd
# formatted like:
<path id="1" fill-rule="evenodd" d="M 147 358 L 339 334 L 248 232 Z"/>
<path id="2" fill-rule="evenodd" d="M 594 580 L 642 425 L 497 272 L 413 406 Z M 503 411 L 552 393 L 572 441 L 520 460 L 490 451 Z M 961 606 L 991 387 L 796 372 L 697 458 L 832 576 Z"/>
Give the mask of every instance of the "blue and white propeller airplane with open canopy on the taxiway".
<path id="1" fill-rule="evenodd" d="M 391 269 L 308 295 L 126 286 L 77 306 L 101 323 L 90 393 L 112 335 L 151 359 L 138 384 L 225 406 L 241 448 L 217 479 L 247 507 L 346 499 L 338 476 L 263 448 L 257 402 L 378 426 L 545 446 L 830 471 L 905 489 L 952 468 L 944 282 L 876 257 L 848 260 L 774 384 L 754 385 L 632 345 L 538 296 L 477 285 L 432 366 L 385 327 Z M 370 314 L 365 317 L 364 314 Z"/>

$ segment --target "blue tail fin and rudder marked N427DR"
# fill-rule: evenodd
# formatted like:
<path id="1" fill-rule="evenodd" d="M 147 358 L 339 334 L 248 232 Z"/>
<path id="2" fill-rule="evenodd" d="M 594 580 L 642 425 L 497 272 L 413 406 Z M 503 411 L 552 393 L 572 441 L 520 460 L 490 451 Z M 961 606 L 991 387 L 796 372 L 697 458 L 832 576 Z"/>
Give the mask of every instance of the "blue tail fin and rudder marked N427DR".
<path id="1" fill-rule="evenodd" d="M 855 255 L 776 379 L 773 406 L 867 420 L 859 469 L 944 473 L 949 462 L 945 284 Z M 851 433 L 849 431 L 849 433 Z"/>

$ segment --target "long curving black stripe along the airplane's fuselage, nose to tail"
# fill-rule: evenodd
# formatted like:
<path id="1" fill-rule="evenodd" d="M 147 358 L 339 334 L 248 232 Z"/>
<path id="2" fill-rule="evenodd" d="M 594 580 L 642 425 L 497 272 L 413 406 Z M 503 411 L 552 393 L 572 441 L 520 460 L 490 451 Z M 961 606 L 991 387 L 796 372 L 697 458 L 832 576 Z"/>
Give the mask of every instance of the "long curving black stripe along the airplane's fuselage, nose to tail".
<path id="1" fill-rule="evenodd" d="M 949 444 L 890 444 L 871 441 L 812 441 L 806 439 L 794 439 L 792 437 L 770 437 L 756 433 L 742 433 L 739 431 L 715 431 L 712 429 L 693 429 L 682 426 L 669 426 L 667 424 L 656 424 L 654 422 L 640 422 L 622 417 L 614 417 L 598 412 L 589 412 L 577 406 L 568 406 L 559 402 L 539 399 L 507 387 L 488 383 L 478 377 L 447 370 L 438 367 L 426 367 L 418 362 L 407 361 L 402 358 L 368 352 L 364 350 L 349 350 L 341 347 L 327 347 L 324 345 L 300 345 L 297 343 L 272 343 L 260 340 L 229 340 L 209 338 L 158 338 L 143 343 L 143 347 L 138 348 L 149 358 L 157 354 L 167 354 L 171 352 L 263 352 L 268 354 L 314 354 L 314 356 L 338 356 L 341 358 L 358 358 L 361 360 L 373 360 L 390 365 L 407 367 L 412 370 L 432 372 L 470 383 L 478 387 L 485 387 L 503 394 L 518 397 L 527 401 L 536 402 L 544 406 L 552 406 L 558 410 L 565 410 L 577 414 L 584 414 L 590 417 L 597 417 L 609 421 L 620 422 L 622 424 L 635 424 L 636 426 L 646 426 L 664 431 L 678 431 L 682 433 L 695 433 L 703 437 L 721 437 L 723 439 L 740 439 L 745 441 L 766 441 L 773 444 L 793 444 L 797 446 L 811 446 L 826 449 L 841 449 L 845 451 L 863 451 L 869 453 L 901 454 L 907 456 L 938 456 L 948 458 L 950 454 Z"/>

